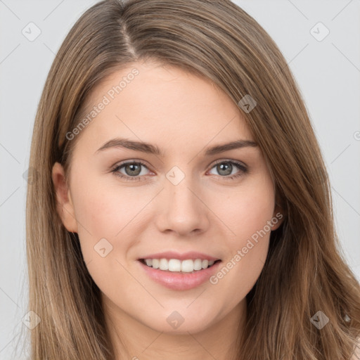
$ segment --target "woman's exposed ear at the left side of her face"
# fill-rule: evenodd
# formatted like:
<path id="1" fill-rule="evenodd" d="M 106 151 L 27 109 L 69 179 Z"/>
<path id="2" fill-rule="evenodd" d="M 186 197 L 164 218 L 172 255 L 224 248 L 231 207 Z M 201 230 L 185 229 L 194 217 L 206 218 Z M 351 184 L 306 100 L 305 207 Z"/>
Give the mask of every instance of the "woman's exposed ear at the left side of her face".
<path id="1" fill-rule="evenodd" d="M 65 181 L 65 172 L 59 162 L 53 165 L 52 171 L 53 185 L 56 190 L 56 209 L 65 228 L 77 233 L 77 221 L 75 218 L 74 206 L 72 205 L 70 189 Z"/>

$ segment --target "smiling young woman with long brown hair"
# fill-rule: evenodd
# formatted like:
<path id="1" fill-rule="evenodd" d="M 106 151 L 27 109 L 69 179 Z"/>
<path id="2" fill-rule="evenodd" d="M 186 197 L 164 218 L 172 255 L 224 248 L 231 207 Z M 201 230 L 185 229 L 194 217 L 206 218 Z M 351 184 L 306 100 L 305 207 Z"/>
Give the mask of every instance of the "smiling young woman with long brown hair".
<path id="1" fill-rule="evenodd" d="M 360 288 L 281 51 L 231 1 L 106 0 L 46 80 L 32 359 L 356 359 Z"/>

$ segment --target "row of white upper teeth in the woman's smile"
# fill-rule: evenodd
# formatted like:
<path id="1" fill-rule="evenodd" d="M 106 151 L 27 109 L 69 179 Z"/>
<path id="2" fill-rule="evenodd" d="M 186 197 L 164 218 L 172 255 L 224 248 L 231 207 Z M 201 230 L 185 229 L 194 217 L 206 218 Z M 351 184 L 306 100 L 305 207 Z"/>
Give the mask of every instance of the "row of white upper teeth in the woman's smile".
<path id="1" fill-rule="evenodd" d="M 203 259 L 145 259 L 146 265 L 153 267 L 153 269 L 160 269 L 165 271 L 181 271 L 184 273 L 191 273 L 201 269 L 207 269 L 207 267 L 214 264 L 214 260 Z"/>

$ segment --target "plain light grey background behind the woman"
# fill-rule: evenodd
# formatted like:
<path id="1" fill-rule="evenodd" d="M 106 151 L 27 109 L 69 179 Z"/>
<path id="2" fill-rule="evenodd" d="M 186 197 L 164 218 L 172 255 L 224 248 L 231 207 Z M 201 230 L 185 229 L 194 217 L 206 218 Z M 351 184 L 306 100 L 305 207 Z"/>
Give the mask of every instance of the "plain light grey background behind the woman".
<path id="1" fill-rule="evenodd" d="M 0 359 L 25 359 L 13 349 L 27 312 L 23 173 L 34 116 L 55 53 L 96 2 L 0 0 Z M 360 0 L 235 2 L 274 38 L 297 79 L 330 174 L 342 249 L 360 279 Z M 34 41 L 22 33 L 36 34 L 30 22 L 41 30 Z M 322 41 L 313 36 L 325 34 L 319 22 L 330 31 Z"/>

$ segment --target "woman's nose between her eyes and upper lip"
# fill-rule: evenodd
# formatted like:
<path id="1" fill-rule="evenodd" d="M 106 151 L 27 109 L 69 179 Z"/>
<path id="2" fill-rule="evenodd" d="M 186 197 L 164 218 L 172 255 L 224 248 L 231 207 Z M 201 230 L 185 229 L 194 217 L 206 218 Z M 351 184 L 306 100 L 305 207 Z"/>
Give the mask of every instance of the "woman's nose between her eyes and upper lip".
<path id="1" fill-rule="evenodd" d="M 194 236 L 207 231 L 210 210 L 202 199 L 201 191 L 194 189 L 190 176 L 177 185 L 165 182 L 158 198 L 159 212 L 156 225 L 159 231 L 177 236 Z"/>

